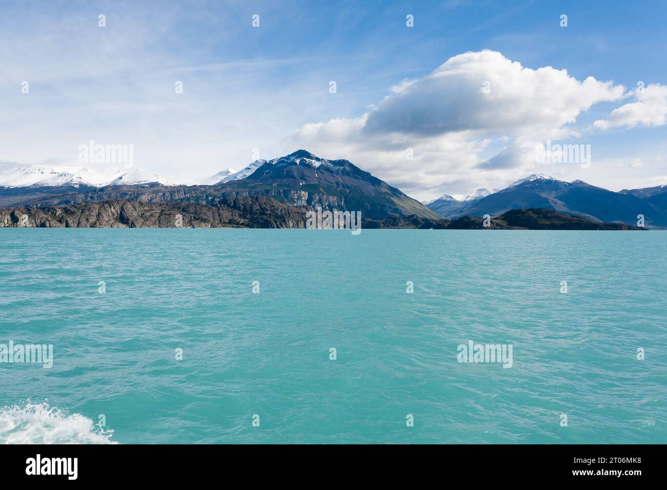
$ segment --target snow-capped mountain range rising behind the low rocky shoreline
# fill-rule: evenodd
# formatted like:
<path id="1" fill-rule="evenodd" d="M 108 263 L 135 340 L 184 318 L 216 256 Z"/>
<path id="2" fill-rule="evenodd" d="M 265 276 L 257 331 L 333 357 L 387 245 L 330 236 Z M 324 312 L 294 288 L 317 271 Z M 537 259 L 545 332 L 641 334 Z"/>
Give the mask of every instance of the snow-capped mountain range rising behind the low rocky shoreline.
<path id="1" fill-rule="evenodd" d="M 248 202 L 264 199 L 262 209 L 266 212 L 271 202 L 276 209 L 287 205 L 299 209 L 361 211 L 371 227 L 374 223 L 379 227 L 393 227 L 397 223 L 422 227 L 444 218 L 456 221 L 466 216 L 495 218 L 515 209 L 546 209 L 592 223 L 626 225 L 636 224 L 638 215 L 644 215 L 646 225 L 667 226 L 667 186 L 613 192 L 583 181 L 570 183 L 534 174 L 504 189 L 477 189 L 460 199 L 443 195 L 420 203 L 348 160 L 323 159 L 305 150 L 272 160 L 257 160 L 237 172 L 225 169 L 194 185 L 177 185 L 141 169 L 102 174 L 85 167 L 34 165 L 0 176 L 0 207 L 4 208 L 62 207 L 103 201 L 143 204 L 176 201 L 203 206 L 224 203 L 230 207 L 230 203 L 245 198 L 250 199 Z M 249 213 L 251 208 L 239 212 Z M 256 225 L 250 215 L 243 215 L 237 221 L 243 220 Z"/>

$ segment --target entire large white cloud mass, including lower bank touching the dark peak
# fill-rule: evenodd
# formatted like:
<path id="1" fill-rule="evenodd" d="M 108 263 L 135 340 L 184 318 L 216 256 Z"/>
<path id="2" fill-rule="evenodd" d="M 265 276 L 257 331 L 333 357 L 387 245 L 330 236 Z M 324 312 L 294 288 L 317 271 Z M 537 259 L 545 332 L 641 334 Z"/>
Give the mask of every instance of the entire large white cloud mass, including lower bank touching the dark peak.
<path id="1" fill-rule="evenodd" d="M 580 81 L 564 69 L 524 67 L 496 51 L 469 52 L 398 83 L 361 117 L 306 124 L 287 140 L 351 159 L 408 194 L 437 195 L 452 183 L 496 187 L 535 165 L 536 145 L 577 137 L 568 125 L 624 92 L 622 85 Z M 510 143 L 495 156 L 480 156 L 500 141 Z M 414 160 L 406 160 L 408 148 Z"/>

